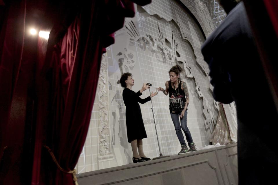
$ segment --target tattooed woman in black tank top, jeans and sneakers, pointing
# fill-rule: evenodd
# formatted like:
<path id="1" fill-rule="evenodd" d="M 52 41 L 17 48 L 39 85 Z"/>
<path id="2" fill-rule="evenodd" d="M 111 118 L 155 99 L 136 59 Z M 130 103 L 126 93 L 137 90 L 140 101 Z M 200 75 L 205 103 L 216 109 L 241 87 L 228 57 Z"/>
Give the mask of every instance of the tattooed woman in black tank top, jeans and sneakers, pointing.
<path id="1" fill-rule="evenodd" d="M 196 151 L 195 144 L 191 137 L 190 131 L 187 127 L 187 106 L 189 104 L 189 93 L 186 86 L 186 83 L 181 81 L 180 72 L 182 68 L 179 65 L 173 66 L 169 71 L 170 80 L 165 83 L 165 89 L 162 87 L 156 88 L 158 91 L 162 91 L 164 95 L 169 94 L 170 98 L 170 114 L 172 121 L 175 126 L 176 134 L 180 141 L 182 147 L 181 151 L 178 154 L 183 154 L 188 152 L 182 130 L 186 136 L 187 143 L 189 145 L 189 151 Z M 181 112 L 173 110 L 173 105 L 178 104 L 181 107 Z M 180 120 L 179 120 L 180 117 Z M 181 130 L 182 129 L 182 130 Z"/>

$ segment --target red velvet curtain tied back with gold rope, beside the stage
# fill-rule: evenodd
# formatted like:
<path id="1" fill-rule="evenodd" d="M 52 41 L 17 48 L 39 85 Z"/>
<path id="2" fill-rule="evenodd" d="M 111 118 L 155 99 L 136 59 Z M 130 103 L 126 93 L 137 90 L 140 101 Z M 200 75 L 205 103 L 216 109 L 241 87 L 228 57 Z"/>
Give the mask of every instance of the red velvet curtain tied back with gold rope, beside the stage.
<path id="1" fill-rule="evenodd" d="M 113 33 L 123 26 L 124 18 L 134 14 L 131 1 L 93 0 L 82 5 L 63 37 L 59 39 L 61 30 L 52 29 L 37 75 L 32 184 L 74 184 L 72 174 L 61 171 L 44 146 L 51 149 L 62 169 L 74 169 L 89 128 L 101 55 L 114 43 Z"/>

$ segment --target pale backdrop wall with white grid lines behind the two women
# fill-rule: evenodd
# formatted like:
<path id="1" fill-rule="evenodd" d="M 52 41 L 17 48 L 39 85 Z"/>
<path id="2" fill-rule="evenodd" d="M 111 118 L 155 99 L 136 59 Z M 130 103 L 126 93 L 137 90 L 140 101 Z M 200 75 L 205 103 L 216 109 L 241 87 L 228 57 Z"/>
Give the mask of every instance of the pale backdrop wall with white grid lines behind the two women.
<path id="1" fill-rule="evenodd" d="M 159 86 L 164 87 L 165 82 L 169 80 L 168 71 L 171 66 L 180 64 L 186 69 L 187 75 L 183 72 L 181 78 L 186 82 L 190 95 L 187 125 L 197 147 L 209 144 L 218 112 L 213 106 L 208 65 L 203 61 L 200 51 L 205 40 L 200 28 L 176 1 L 153 0 L 150 5 L 143 8 L 138 6 L 136 9 L 136 16 L 126 18 L 125 26 L 116 32 L 115 44 L 107 48 L 106 54 L 109 75 L 110 145 L 114 158 L 98 162 L 98 104 L 95 103 L 87 140 L 77 164 L 78 173 L 132 162 L 131 146 L 127 142 L 126 134 L 123 88 L 118 83 L 121 74 L 125 72 L 132 73 L 135 79 L 132 90 L 138 91 L 143 83 L 149 82 L 153 84 L 151 91 L 155 91 Z M 206 10 L 209 11 L 209 8 Z M 213 24 L 215 27 L 215 22 Z M 165 39 L 169 43 L 166 43 Z M 193 77 L 190 77 L 190 73 Z M 149 91 L 143 92 L 142 98 L 147 96 Z M 144 151 L 146 156 L 154 158 L 159 156 L 159 150 L 150 109 L 151 102 L 140 106 L 148 136 L 143 139 Z M 169 96 L 160 92 L 153 97 L 153 107 L 163 155 L 177 154 L 180 151 L 180 143 L 169 113 Z"/>

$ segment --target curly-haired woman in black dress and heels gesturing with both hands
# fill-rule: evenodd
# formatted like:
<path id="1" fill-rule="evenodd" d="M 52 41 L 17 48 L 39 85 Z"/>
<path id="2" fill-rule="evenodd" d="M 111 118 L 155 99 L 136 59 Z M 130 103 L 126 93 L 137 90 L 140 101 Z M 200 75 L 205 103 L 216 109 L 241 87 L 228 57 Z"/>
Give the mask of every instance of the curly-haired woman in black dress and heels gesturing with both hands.
<path id="1" fill-rule="evenodd" d="M 144 90 L 147 90 L 150 87 L 149 85 L 143 84 L 142 88 L 138 92 L 131 90 L 134 85 L 134 79 L 132 79 L 131 73 L 122 74 L 120 83 L 121 86 L 125 88 L 122 91 L 122 97 L 126 106 L 125 116 L 127 124 L 127 140 L 131 143 L 133 163 L 148 161 L 150 158 L 147 158 L 143 151 L 142 139 L 147 138 L 147 134 L 139 103 L 143 104 L 150 101 L 151 97 L 157 95 L 158 92 L 152 92 L 151 96 L 141 99 L 139 96 L 142 95 Z"/>

